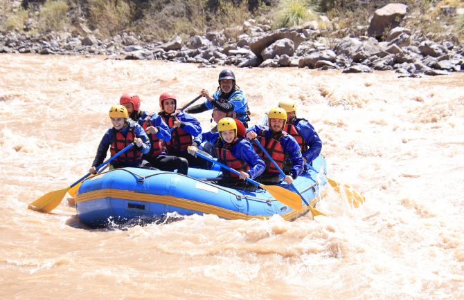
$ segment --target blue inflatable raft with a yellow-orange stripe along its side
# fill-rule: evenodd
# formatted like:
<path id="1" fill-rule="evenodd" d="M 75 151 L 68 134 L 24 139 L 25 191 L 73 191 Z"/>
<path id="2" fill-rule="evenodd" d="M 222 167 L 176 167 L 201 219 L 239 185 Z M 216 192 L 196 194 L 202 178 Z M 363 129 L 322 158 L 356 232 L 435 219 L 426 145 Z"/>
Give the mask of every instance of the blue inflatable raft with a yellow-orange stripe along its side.
<path id="1" fill-rule="evenodd" d="M 317 203 L 319 187 L 325 185 L 325 170 L 325 158 L 319 156 L 310 171 L 293 182 L 312 207 Z M 75 207 L 80 220 L 92 227 L 162 219 L 174 212 L 215 214 L 226 219 L 265 219 L 278 214 L 293 220 L 309 210 L 304 203 L 303 209 L 294 210 L 264 189 L 245 191 L 216 185 L 211 178 L 220 174 L 217 168 L 190 168 L 188 176 L 139 168 L 114 169 L 84 180 Z M 285 183 L 280 186 L 292 190 Z"/>

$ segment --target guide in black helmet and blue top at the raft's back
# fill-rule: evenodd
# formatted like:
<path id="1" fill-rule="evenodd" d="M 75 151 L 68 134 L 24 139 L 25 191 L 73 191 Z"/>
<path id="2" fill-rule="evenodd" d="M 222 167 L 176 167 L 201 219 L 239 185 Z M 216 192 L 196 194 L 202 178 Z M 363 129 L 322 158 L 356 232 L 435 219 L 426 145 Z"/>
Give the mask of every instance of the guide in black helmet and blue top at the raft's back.
<path id="1" fill-rule="evenodd" d="M 217 123 L 222 118 L 237 118 L 248 128 L 250 111 L 248 109 L 247 97 L 235 83 L 235 75 L 229 69 L 219 73 L 217 79 L 219 86 L 211 96 L 208 90 L 202 89 L 200 94 L 206 98 L 202 104 L 186 109 L 186 113 L 202 113 L 213 109 L 213 120 Z"/>

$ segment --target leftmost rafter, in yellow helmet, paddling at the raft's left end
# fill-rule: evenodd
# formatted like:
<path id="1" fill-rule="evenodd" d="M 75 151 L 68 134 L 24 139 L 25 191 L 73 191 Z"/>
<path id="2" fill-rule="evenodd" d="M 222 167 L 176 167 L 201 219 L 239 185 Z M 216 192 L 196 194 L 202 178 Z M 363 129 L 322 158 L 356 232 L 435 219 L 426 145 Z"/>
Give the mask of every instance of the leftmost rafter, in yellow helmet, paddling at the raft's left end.
<path id="1" fill-rule="evenodd" d="M 118 156 L 110 163 L 110 169 L 119 167 L 141 167 L 142 156 L 150 151 L 150 140 L 142 127 L 136 122 L 129 120 L 127 109 L 123 105 L 113 105 L 109 109 L 109 118 L 113 127 L 103 135 L 95 159 L 89 169 L 90 174 L 96 174 L 96 166 L 102 164 L 107 156 L 107 151 L 114 156 L 118 151 L 128 144 L 135 142 L 134 147 Z"/>

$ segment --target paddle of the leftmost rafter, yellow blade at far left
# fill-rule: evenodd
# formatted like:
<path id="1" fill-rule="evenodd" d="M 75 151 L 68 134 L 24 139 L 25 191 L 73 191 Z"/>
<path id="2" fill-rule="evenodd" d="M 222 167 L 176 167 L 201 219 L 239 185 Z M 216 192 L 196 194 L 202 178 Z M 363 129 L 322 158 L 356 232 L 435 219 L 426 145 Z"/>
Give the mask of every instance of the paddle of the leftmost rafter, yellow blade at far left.
<path id="1" fill-rule="evenodd" d="M 131 144 L 128 144 L 124 149 L 122 149 L 121 151 L 116 153 L 114 156 L 109 158 L 107 161 L 103 162 L 96 169 L 100 169 L 101 167 L 103 167 L 107 163 L 111 162 L 111 160 L 114 160 L 115 158 L 120 156 L 125 151 L 131 149 L 132 147 L 134 147 L 133 142 Z M 91 175 L 90 173 L 85 174 L 84 176 L 82 176 L 82 178 L 80 178 L 78 181 L 74 182 L 69 187 L 66 187 L 65 189 L 60 189 L 60 190 L 57 190 L 57 191 L 51 191 L 51 192 L 45 194 L 44 196 L 42 196 L 42 197 L 38 198 L 37 200 L 35 200 L 33 203 L 30 203 L 30 205 L 28 205 L 28 209 L 37 210 L 39 212 L 51 212 L 53 209 L 55 209 L 55 207 L 57 207 L 61 203 L 61 200 L 63 200 L 64 195 L 66 195 L 67 191 L 69 191 L 69 189 L 71 189 L 71 187 L 77 185 L 79 182 L 81 182 L 82 180 L 84 180 L 85 178 L 87 178 L 90 175 Z"/>

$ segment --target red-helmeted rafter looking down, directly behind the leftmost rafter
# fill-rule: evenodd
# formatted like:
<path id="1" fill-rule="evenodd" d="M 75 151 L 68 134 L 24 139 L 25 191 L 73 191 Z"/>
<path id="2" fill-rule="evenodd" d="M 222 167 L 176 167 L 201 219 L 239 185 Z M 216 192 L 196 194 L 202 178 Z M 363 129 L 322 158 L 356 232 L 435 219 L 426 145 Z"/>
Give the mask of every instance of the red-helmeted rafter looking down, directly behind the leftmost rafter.
<path id="1" fill-rule="evenodd" d="M 166 153 L 166 142 L 171 140 L 168 125 L 156 113 L 140 110 L 140 97 L 135 93 L 124 93 L 119 103 L 127 109 L 132 120 L 136 120 L 143 127 L 150 138 L 150 152 L 145 153 L 143 159 L 152 167 L 162 171 L 175 171 L 187 175 L 188 162 L 185 158 L 168 156 Z"/>

